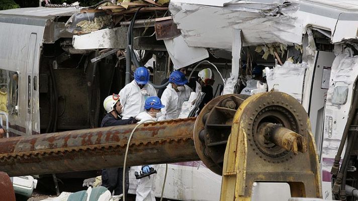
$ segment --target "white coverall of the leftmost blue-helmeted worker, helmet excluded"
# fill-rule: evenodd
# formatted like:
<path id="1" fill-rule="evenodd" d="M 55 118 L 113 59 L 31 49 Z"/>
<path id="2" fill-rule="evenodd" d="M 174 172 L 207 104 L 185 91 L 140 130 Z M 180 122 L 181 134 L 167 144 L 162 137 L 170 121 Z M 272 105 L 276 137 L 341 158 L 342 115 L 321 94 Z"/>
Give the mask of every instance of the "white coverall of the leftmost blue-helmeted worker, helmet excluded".
<path id="1" fill-rule="evenodd" d="M 139 113 L 144 112 L 144 103 L 149 96 L 156 96 L 154 87 L 150 84 L 145 84 L 143 88 L 139 88 L 137 82 L 133 80 L 131 83 L 125 85 L 119 91 L 119 99 L 123 106 L 122 119 L 129 119 L 136 117 Z"/>

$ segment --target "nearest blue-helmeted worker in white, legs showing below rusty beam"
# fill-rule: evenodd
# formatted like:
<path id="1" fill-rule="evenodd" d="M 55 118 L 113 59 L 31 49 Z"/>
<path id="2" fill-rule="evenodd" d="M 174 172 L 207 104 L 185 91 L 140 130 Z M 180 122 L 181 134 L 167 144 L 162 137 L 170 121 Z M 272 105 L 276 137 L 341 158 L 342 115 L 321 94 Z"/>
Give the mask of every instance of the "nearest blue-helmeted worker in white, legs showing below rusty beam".
<path id="1" fill-rule="evenodd" d="M 150 96 L 145 100 L 144 109 L 145 112 L 139 113 L 137 115 L 136 120 L 138 120 L 138 124 L 146 122 L 146 121 L 157 121 L 157 119 L 161 116 L 160 110 L 164 108 L 163 104 L 160 101 L 160 98 L 157 96 Z M 149 165 L 144 166 L 136 166 L 134 169 L 139 172 L 149 173 L 150 171 Z M 153 167 L 154 168 L 154 167 Z M 154 174 L 143 177 L 139 179 L 138 187 L 136 190 L 136 201 L 155 201 L 155 196 L 153 192 L 153 182 L 154 182 Z"/>

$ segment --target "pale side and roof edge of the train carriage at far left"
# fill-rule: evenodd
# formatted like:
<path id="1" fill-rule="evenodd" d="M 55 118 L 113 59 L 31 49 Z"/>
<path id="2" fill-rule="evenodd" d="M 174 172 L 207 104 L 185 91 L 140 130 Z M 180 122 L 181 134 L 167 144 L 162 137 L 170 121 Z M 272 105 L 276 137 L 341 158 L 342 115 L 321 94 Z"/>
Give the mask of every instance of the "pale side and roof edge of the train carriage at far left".
<path id="1" fill-rule="evenodd" d="M 8 114 L 10 132 L 17 135 L 40 133 L 38 79 L 45 26 L 55 16 L 71 16 L 76 12 L 79 10 L 75 8 L 0 11 L 0 46 L 7 47 L 0 49 L 0 69 L 19 74 L 17 113 Z M 9 75 L 9 79 L 13 77 Z"/>

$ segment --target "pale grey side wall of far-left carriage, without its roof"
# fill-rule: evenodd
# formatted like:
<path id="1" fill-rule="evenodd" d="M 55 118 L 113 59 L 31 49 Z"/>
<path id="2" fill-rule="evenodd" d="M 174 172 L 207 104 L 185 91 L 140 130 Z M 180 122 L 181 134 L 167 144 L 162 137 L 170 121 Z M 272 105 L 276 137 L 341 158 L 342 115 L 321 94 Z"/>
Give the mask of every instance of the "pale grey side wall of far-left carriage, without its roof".
<path id="1" fill-rule="evenodd" d="M 43 22 L 45 25 L 46 21 Z M 37 66 L 36 69 L 38 69 L 39 66 L 40 46 L 42 45 L 44 28 L 45 27 L 40 26 L 0 22 L 0 36 L 2 36 L 0 40 L 0 46 L 7 47 L 0 49 L 0 68 L 19 72 L 19 100 L 21 101 L 18 101 L 18 114 L 9 114 L 9 121 L 11 125 L 18 125 L 20 127 L 26 128 L 26 115 L 28 114 L 27 66 L 29 65 L 28 61 L 31 60 L 28 58 L 28 55 L 32 57 L 32 66 L 29 67 L 31 68 L 32 72 L 32 67 Z M 37 37 L 29 42 L 31 33 L 36 33 Z M 38 70 L 33 75 L 38 76 Z M 37 103 L 38 97 L 35 98 L 35 104 Z M 37 110 L 39 110 L 38 107 Z M 36 114 L 39 114 L 39 111 Z M 34 117 L 34 119 L 39 121 L 39 117 Z M 32 124 L 31 121 L 28 122 L 29 126 L 30 124 Z M 39 122 L 32 129 L 35 132 L 40 132 Z M 32 135 L 32 129 L 31 131 L 28 130 L 26 135 Z M 24 130 L 20 131 L 10 128 L 10 132 L 18 135 L 25 135 Z"/>

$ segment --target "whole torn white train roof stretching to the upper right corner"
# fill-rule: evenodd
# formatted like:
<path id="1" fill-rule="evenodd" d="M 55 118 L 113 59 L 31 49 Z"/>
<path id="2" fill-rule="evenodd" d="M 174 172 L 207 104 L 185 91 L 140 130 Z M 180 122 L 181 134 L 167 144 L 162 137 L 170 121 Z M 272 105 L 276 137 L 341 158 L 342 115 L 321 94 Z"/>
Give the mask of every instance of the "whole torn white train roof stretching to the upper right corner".
<path id="1" fill-rule="evenodd" d="M 356 1 L 172 0 L 169 10 L 189 46 L 231 49 L 232 29 L 243 45 L 302 43 L 307 27 L 331 31 L 332 43 L 356 38 Z M 194 3 L 193 3 L 194 2 Z"/>

